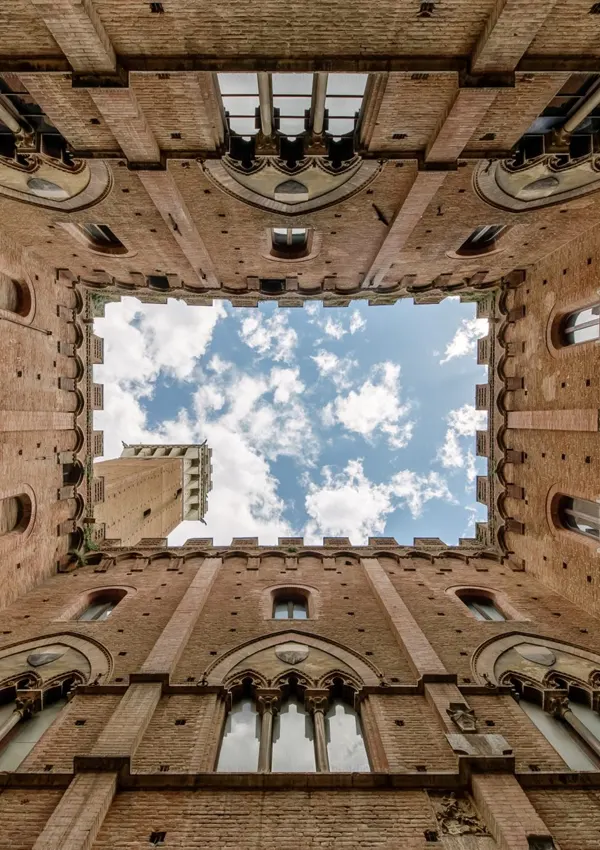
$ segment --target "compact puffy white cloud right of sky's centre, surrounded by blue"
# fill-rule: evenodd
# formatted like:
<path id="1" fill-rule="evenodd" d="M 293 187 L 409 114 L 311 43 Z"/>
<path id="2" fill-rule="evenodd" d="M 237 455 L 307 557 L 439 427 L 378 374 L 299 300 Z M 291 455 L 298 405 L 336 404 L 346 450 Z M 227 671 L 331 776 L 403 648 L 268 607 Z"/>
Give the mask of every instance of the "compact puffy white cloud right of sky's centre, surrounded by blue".
<path id="1" fill-rule="evenodd" d="M 348 431 L 370 440 L 384 435 L 391 448 L 403 448 L 412 436 L 413 422 L 408 420 L 409 404 L 400 403 L 400 366 L 380 363 L 356 390 L 338 395 L 332 407 L 335 421 Z"/>

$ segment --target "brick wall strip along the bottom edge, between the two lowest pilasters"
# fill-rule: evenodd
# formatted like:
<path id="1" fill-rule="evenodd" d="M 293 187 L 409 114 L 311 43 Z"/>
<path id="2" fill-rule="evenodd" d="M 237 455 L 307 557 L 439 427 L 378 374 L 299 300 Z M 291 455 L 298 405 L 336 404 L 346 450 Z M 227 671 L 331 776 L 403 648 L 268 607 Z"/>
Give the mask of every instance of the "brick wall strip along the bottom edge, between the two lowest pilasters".
<path id="1" fill-rule="evenodd" d="M 302 812 L 302 843 L 311 850 L 327 843 L 344 850 L 363 843 L 377 850 L 387 850 L 393 843 L 424 850 L 424 831 L 435 829 L 430 804 L 421 791 L 356 791 L 352 804 L 344 792 L 288 791 L 285 805 L 282 802 L 277 791 L 120 794 L 92 848 L 143 847 L 152 830 L 164 830 L 166 846 L 234 850 L 256 847 L 260 841 L 264 848 L 292 850 L 298 846 L 298 812 Z"/>

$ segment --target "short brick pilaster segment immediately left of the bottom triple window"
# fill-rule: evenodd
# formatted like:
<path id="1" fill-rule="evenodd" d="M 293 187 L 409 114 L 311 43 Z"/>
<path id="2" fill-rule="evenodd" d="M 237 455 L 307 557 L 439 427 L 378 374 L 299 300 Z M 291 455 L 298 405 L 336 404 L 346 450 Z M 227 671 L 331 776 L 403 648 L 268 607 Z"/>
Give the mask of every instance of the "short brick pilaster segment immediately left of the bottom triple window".
<path id="1" fill-rule="evenodd" d="M 130 685 L 94 744 L 91 756 L 133 756 L 152 719 L 161 691 L 159 682 Z"/>

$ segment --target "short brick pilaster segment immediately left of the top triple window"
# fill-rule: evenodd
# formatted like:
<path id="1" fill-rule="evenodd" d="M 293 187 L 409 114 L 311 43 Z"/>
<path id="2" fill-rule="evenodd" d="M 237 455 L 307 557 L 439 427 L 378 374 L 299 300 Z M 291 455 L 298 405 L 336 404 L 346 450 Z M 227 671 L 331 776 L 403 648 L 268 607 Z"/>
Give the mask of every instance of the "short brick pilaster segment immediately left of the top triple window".
<path id="1" fill-rule="evenodd" d="M 91 88 L 89 95 L 130 162 L 160 162 L 160 148 L 132 89 Z"/>

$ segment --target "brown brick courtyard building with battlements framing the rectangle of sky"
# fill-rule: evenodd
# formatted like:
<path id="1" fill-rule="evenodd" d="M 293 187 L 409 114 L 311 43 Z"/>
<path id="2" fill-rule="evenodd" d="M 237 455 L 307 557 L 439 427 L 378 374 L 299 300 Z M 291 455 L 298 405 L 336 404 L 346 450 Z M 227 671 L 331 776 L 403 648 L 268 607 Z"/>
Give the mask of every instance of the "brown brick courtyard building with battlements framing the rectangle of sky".
<path id="1" fill-rule="evenodd" d="M 599 11 L 2 5 L 0 844 L 600 845 Z M 124 293 L 476 301 L 477 540 L 102 544 Z"/>

